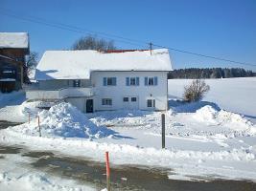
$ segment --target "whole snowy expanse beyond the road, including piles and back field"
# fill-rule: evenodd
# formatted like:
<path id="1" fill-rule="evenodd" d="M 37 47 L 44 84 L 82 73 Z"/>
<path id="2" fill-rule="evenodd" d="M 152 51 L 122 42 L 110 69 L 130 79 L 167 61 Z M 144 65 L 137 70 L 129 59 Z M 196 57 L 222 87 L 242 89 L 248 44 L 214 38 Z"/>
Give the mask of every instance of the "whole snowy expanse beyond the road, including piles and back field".
<path id="1" fill-rule="evenodd" d="M 7 109 L 9 106 L 0 109 L 0 119 L 8 111 L 14 114 L 9 116 L 10 120 L 26 122 L 0 130 L 0 144 L 23 145 L 32 150 L 56 151 L 103 162 L 105 151 L 109 151 L 112 165 L 166 168 L 170 169 L 169 178 L 174 180 L 256 181 L 256 125 L 253 123 L 256 78 L 206 80 L 211 90 L 198 103 L 175 100 L 182 96 L 186 83 L 186 80 L 169 80 L 169 95 L 173 99 L 169 101 L 170 110 L 164 113 L 164 150 L 161 149 L 160 112 L 84 115 L 66 103 L 40 111 L 35 106 L 41 102 L 23 102 L 12 105 L 12 109 Z M 30 123 L 28 112 L 33 118 Z M 3 166 L 0 170 L 0 174 L 7 171 Z"/>

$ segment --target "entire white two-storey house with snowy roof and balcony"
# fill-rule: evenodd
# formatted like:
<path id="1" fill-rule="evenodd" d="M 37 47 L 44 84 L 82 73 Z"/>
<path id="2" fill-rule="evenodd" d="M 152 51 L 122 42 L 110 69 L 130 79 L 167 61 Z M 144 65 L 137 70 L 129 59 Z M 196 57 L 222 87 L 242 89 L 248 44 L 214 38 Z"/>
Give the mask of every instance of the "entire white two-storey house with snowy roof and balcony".
<path id="1" fill-rule="evenodd" d="M 167 110 L 166 49 L 152 51 L 47 51 L 36 67 L 28 99 L 63 99 L 90 113 L 102 110 Z"/>

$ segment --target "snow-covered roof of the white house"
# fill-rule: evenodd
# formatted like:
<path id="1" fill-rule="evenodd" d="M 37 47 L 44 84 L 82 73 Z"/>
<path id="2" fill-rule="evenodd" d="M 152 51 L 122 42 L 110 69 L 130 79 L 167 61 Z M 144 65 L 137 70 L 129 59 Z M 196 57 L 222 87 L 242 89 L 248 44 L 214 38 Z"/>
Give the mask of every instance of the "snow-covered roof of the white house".
<path id="1" fill-rule="evenodd" d="M 92 71 L 172 70 L 167 49 L 124 53 L 47 51 L 36 67 L 35 79 L 89 79 Z"/>

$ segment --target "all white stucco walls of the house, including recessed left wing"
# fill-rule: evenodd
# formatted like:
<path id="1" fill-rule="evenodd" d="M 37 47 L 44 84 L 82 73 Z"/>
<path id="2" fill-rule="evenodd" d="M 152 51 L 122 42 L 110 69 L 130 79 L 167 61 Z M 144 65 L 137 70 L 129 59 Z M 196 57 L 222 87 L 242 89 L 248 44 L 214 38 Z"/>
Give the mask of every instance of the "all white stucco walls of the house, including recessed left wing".
<path id="1" fill-rule="evenodd" d="M 156 86 L 145 86 L 145 77 L 157 76 Z M 104 86 L 104 77 L 116 77 L 116 86 Z M 139 77 L 139 86 L 127 86 L 126 77 Z M 58 90 L 72 87 L 73 80 L 46 80 L 39 81 L 40 90 Z M 93 110 L 167 110 L 167 72 L 92 72 L 91 80 L 81 80 L 82 87 L 92 86 L 94 96 L 66 97 L 68 101 L 78 107 L 82 112 L 86 111 L 86 99 L 93 99 Z M 129 97 L 129 102 L 123 98 Z M 130 98 L 136 97 L 137 101 L 131 102 Z M 103 98 L 111 98 L 112 106 L 102 105 Z M 147 107 L 147 99 L 155 99 L 155 107 Z"/>

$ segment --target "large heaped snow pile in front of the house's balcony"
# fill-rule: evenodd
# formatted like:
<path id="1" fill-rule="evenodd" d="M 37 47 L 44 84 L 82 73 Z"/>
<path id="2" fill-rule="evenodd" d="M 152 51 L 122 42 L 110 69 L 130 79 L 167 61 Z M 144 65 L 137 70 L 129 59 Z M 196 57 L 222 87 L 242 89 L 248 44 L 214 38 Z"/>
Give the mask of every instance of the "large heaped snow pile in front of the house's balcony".
<path id="1" fill-rule="evenodd" d="M 49 111 L 39 112 L 38 116 L 42 137 L 104 138 L 115 135 L 112 130 L 96 126 L 69 103 L 61 102 Z M 39 135 L 37 118 L 30 123 L 10 127 L 10 129 L 26 135 Z"/>

